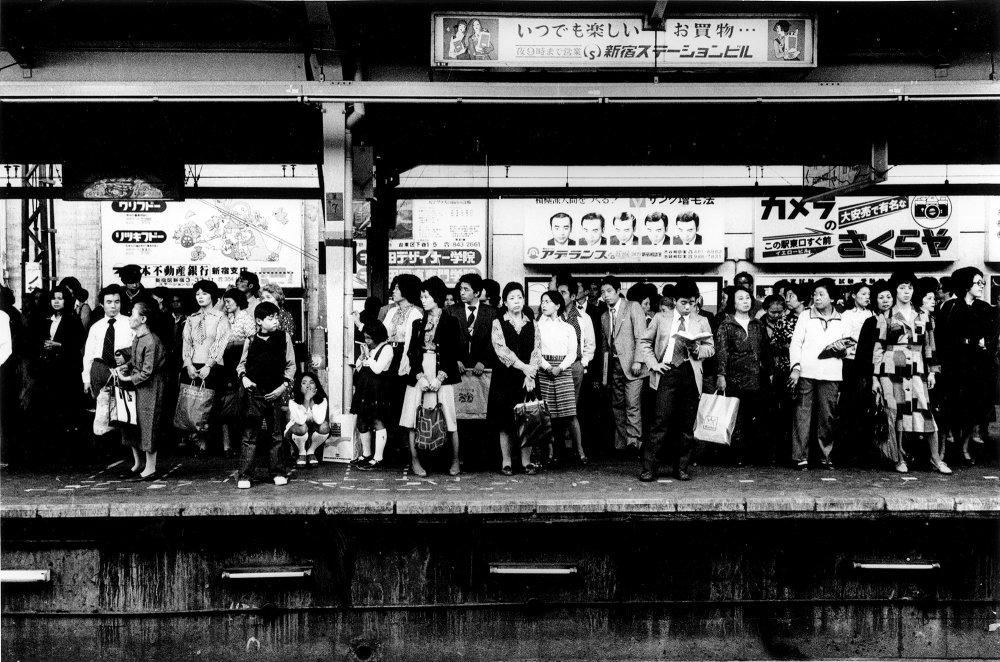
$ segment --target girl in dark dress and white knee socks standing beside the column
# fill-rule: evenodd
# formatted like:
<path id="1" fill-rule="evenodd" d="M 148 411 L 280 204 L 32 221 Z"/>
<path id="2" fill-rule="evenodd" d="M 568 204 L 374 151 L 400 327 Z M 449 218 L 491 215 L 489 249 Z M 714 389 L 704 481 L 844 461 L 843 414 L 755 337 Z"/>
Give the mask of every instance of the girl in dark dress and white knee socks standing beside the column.
<path id="1" fill-rule="evenodd" d="M 392 364 L 392 347 L 388 332 L 378 320 L 365 324 L 365 349 L 358 357 L 354 375 L 354 397 L 351 413 L 358 417 L 361 437 L 361 457 L 353 464 L 361 471 L 371 471 L 382 466 L 388 433 L 385 420 L 389 417 L 389 366 Z M 372 428 L 375 429 L 375 452 L 372 453 Z"/>

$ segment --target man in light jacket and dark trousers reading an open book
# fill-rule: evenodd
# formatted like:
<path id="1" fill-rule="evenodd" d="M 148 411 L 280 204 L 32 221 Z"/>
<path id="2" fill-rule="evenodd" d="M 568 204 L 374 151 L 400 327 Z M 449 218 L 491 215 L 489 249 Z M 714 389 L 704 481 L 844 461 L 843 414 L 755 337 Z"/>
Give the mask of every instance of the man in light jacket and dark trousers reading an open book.
<path id="1" fill-rule="evenodd" d="M 643 446 L 639 480 L 656 480 L 661 452 L 666 453 L 678 480 L 690 480 L 688 465 L 694 449 L 694 420 L 702 390 L 702 361 L 715 355 L 709 337 L 693 342 L 675 334 L 711 334 L 708 320 L 695 312 L 698 285 L 678 279 L 674 309 L 657 313 L 639 341 L 639 351 L 650 369 L 649 385 L 656 389 L 656 407 L 649 439 Z"/>

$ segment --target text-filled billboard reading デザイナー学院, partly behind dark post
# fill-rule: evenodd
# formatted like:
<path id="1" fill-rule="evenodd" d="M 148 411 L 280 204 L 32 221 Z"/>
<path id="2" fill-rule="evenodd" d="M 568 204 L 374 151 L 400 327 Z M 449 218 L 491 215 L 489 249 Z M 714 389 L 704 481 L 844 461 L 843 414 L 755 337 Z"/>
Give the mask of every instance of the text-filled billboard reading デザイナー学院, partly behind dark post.
<path id="1" fill-rule="evenodd" d="M 364 218 L 361 219 L 364 223 Z M 368 242 L 355 218 L 354 289 L 368 287 Z M 462 274 L 486 277 L 486 200 L 400 200 L 389 233 L 389 278 L 437 276 L 448 287 Z"/>

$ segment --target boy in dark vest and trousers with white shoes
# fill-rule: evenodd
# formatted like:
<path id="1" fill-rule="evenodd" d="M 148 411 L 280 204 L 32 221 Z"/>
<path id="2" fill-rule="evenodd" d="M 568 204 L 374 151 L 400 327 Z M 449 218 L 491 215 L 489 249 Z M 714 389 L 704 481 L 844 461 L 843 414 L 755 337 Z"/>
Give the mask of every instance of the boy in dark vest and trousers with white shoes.
<path id="1" fill-rule="evenodd" d="M 257 321 L 257 334 L 247 339 L 243 357 L 236 368 L 236 374 L 248 393 L 244 408 L 247 421 L 243 426 L 240 473 L 236 483 L 241 490 L 250 488 L 257 446 L 268 439 L 271 479 L 275 485 L 288 483 L 282 459 L 284 437 L 280 401 L 295 377 L 295 352 L 291 337 L 278 330 L 280 318 L 277 306 L 262 301 L 257 304 L 253 316 Z"/>

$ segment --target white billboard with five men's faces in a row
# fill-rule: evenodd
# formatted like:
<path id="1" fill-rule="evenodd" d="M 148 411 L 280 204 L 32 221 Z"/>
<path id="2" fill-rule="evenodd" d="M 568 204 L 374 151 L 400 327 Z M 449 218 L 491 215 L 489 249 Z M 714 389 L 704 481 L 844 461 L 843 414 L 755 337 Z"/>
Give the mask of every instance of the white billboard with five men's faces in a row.
<path id="1" fill-rule="evenodd" d="M 503 223 L 520 219 L 525 264 L 719 263 L 726 219 L 750 200 L 715 197 L 498 200 Z"/>

